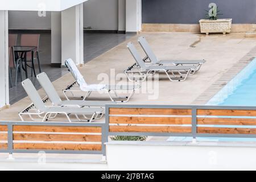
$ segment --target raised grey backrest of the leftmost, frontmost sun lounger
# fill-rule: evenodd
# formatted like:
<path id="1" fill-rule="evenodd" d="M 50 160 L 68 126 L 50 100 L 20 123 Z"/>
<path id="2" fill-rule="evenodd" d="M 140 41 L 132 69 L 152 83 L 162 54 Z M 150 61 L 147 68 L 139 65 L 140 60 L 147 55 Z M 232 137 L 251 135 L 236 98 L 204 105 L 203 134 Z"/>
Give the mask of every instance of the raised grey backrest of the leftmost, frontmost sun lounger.
<path id="1" fill-rule="evenodd" d="M 35 86 L 32 84 L 30 79 L 24 80 L 22 82 L 22 86 L 28 94 L 28 97 L 30 97 L 31 101 L 35 105 L 36 109 L 40 111 L 45 111 L 46 105 L 44 105 L 42 98 L 40 97 L 38 91 L 36 91 Z"/>

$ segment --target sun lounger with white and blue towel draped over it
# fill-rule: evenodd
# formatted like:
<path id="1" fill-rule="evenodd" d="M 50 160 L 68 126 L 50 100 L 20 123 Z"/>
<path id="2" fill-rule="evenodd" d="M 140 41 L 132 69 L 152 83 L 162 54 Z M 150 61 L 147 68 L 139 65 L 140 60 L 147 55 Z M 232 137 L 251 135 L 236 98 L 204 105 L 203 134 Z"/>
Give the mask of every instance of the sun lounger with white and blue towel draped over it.
<path id="1" fill-rule="evenodd" d="M 68 92 L 72 93 L 72 95 L 73 92 L 86 92 L 85 96 L 83 97 L 85 100 L 90 96 L 92 92 L 104 91 L 108 93 L 110 100 L 112 100 L 113 102 L 128 102 L 130 98 L 133 97 L 135 90 L 141 88 L 141 86 L 139 85 L 89 85 L 85 82 L 84 77 L 81 75 L 79 69 L 76 67 L 76 64 L 73 62 L 72 59 L 68 59 L 67 61 L 65 61 L 65 65 L 68 68 L 68 70 L 72 73 L 73 77 L 76 80 L 76 83 L 79 85 L 80 88 L 79 90 L 75 90 L 69 87 L 68 89 L 63 90 L 67 100 L 69 100 L 69 97 L 67 95 Z M 120 97 L 118 96 L 117 91 L 129 91 L 131 93 L 127 97 Z"/>

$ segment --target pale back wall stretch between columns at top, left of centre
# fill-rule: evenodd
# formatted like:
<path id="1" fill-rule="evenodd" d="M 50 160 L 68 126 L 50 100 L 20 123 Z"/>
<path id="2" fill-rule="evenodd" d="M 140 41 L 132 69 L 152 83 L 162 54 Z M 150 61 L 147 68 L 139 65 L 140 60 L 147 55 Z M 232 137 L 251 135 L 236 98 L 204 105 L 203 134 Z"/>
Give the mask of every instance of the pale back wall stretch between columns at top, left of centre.
<path id="1" fill-rule="evenodd" d="M 85 2 L 84 27 L 118 30 L 118 0 L 90 0 Z"/>

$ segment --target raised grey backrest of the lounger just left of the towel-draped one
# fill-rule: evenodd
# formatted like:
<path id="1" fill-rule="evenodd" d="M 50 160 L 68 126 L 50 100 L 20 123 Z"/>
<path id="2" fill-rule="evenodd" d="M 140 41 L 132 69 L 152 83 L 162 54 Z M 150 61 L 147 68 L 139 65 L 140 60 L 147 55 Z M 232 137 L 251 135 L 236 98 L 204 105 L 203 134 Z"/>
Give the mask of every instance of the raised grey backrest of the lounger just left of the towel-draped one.
<path id="1" fill-rule="evenodd" d="M 60 104 L 61 98 L 59 94 L 56 92 L 54 86 L 52 85 L 51 80 L 49 80 L 49 77 L 46 75 L 46 73 L 40 73 L 38 76 L 36 76 L 36 78 L 38 78 L 40 85 L 46 91 L 47 96 L 52 101 L 52 104 L 53 105 Z"/>

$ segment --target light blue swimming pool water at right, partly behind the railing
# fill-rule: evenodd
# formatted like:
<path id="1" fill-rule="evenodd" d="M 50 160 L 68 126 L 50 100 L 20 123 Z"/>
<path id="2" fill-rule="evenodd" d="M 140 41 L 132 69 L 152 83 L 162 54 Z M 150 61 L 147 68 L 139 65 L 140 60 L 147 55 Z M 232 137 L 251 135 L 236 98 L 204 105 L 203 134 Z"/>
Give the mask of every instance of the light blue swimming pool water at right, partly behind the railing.
<path id="1" fill-rule="evenodd" d="M 251 61 L 236 77 L 224 86 L 206 105 L 256 106 L 256 59 Z M 256 117 L 250 117 L 256 118 Z M 210 126 L 230 127 L 230 126 Z M 233 127 L 233 126 L 232 126 Z M 245 126 L 236 126 L 245 127 Z M 255 128 L 255 126 L 251 126 Z M 191 137 L 170 137 L 168 141 L 191 141 Z M 255 138 L 197 138 L 198 141 L 255 142 Z"/>

